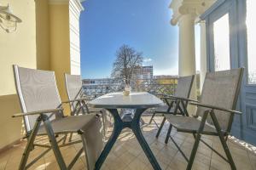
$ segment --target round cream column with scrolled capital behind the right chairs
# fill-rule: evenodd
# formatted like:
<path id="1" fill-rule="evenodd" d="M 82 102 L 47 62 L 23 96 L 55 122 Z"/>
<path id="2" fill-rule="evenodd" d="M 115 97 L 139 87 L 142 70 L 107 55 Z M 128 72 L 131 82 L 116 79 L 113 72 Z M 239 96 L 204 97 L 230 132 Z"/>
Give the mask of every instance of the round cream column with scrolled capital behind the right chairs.
<path id="1" fill-rule="evenodd" d="M 195 65 L 195 20 L 198 20 L 204 11 L 216 0 L 172 0 L 171 24 L 179 26 L 179 54 L 178 54 L 178 74 L 179 76 L 189 76 L 196 74 Z M 201 59 L 206 56 L 205 41 L 201 41 Z M 203 57 L 204 56 L 204 57 Z M 202 71 L 206 71 L 206 62 L 201 62 Z M 205 67 L 205 68 L 204 68 Z M 204 75 L 201 75 L 204 76 Z M 195 77 L 196 79 L 196 77 Z M 204 79 L 204 78 L 202 78 Z M 193 83 L 190 98 L 196 99 L 196 80 Z M 189 108 L 190 114 L 195 114 L 195 107 Z"/>

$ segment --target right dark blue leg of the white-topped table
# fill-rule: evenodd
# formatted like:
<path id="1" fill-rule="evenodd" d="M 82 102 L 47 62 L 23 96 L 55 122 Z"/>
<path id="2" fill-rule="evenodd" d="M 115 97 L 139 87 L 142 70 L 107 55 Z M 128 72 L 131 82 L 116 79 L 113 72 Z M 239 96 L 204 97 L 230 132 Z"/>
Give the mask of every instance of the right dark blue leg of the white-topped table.
<path id="1" fill-rule="evenodd" d="M 143 133 L 140 127 L 140 119 L 144 111 L 146 111 L 146 109 L 137 109 L 135 116 L 131 122 L 131 129 L 132 129 L 132 132 L 135 134 L 137 141 L 142 146 L 144 153 L 148 157 L 148 161 L 151 163 L 152 167 L 154 167 L 154 170 L 160 170 L 161 169 L 160 165 L 156 161 L 154 154 L 150 150 L 146 139 L 144 139 Z"/>

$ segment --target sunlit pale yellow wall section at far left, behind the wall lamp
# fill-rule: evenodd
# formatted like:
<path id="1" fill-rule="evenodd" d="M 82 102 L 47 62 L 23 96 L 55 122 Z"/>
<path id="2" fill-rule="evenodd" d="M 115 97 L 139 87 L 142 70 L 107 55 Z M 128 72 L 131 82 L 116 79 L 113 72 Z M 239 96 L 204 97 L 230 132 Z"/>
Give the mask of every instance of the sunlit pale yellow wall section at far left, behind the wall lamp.
<path id="1" fill-rule="evenodd" d="M 13 33 L 8 34 L 0 29 L 0 149 L 21 136 L 21 119 L 11 118 L 20 111 L 12 65 L 37 67 L 34 1 L 1 1 L 2 5 L 7 3 L 22 23 Z"/>

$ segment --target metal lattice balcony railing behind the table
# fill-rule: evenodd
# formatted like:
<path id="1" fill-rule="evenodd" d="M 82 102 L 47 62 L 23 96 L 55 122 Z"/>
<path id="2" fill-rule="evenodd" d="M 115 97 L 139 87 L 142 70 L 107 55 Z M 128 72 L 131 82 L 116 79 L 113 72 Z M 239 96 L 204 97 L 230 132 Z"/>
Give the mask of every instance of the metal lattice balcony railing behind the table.
<path id="1" fill-rule="evenodd" d="M 143 80 L 131 85 L 133 92 L 148 92 L 150 94 L 174 94 L 177 86 L 177 79 L 172 81 L 160 82 L 156 80 Z M 111 83 L 90 83 L 83 84 L 84 93 L 88 95 L 102 95 L 112 92 L 121 92 L 124 90 L 124 84 L 121 82 Z"/>

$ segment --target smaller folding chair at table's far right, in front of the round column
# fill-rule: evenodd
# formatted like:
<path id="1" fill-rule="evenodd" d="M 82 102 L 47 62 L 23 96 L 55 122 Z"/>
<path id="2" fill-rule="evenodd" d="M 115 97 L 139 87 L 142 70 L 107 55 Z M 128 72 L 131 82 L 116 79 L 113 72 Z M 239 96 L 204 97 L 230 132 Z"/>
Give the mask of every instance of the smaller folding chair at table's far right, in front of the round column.
<path id="1" fill-rule="evenodd" d="M 156 114 L 188 115 L 188 111 L 187 111 L 188 100 L 184 100 L 184 99 L 189 98 L 191 88 L 194 82 L 194 78 L 195 78 L 195 75 L 192 75 L 189 77 L 179 77 L 177 80 L 177 88 L 174 95 L 160 94 L 161 99 L 165 101 L 166 105 L 156 108 L 149 123 L 154 121 L 154 116 Z M 160 127 L 158 129 L 158 132 L 156 134 L 156 138 L 159 137 L 165 122 L 166 122 L 166 117 L 164 116 L 160 124 Z M 157 125 L 155 121 L 154 123 Z M 169 129 L 171 130 L 171 125 Z M 166 134 L 166 141 L 165 141 L 166 144 L 168 143 L 169 135 L 171 133 L 170 130 L 168 130 L 168 133 Z"/>

